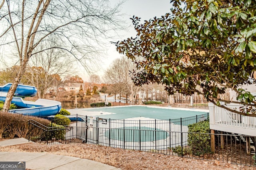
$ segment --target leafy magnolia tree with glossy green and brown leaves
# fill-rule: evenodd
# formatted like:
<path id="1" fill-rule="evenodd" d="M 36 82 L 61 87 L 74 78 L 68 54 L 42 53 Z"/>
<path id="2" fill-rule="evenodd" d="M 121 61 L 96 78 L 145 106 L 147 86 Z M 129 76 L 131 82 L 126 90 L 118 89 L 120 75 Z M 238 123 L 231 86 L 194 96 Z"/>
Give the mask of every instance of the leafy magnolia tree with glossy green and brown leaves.
<path id="1" fill-rule="evenodd" d="M 162 18 L 140 24 L 136 37 L 116 42 L 133 59 L 134 82 L 164 84 L 169 94 L 202 94 L 213 104 L 241 115 L 256 116 L 254 96 L 242 84 L 256 79 L 255 0 L 176 0 Z M 136 61 L 136 57 L 143 60 Z M 236 92 L 240 111 L 220 105 L 226 90 Z"/>

